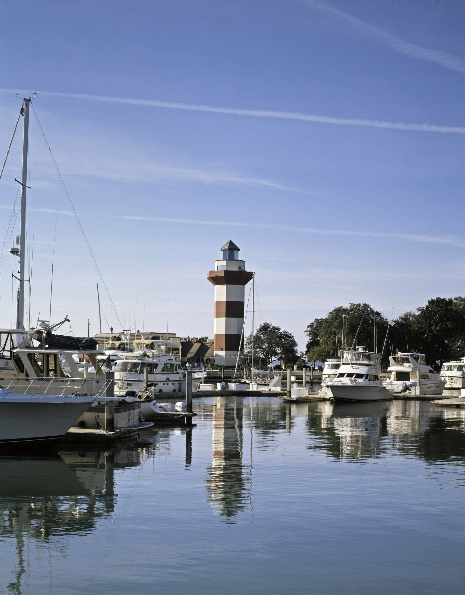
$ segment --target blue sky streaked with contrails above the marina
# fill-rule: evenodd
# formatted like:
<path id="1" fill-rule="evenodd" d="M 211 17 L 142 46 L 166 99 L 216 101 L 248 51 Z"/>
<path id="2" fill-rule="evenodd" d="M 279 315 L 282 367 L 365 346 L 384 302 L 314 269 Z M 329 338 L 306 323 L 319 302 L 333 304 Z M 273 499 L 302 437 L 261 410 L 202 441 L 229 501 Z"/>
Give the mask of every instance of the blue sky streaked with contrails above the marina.
<path id="1" fill-rule="evenodd" d="M 463 295 L 464 23 L 465 5 L 446 0 L 7 1 L 3 154 L 12 90 L 37 90 L 126 327 L 166 329 L 169 299 L 170 331 L 212 336 L 206 274 L 232 239 L 257 273 L 258 321 L 303 348 L 308 322 L 336 305 L 397 316 Z M 33 114 L 30 135 L 32 319 L 48 318 L 58 209 L 52 319 L 68 314 L 76 334 L 90 319 L 95 333 L 98 275 Z M 2 243 L 19 149 L 17 134 Z M 0 270 L 4 326 L 12 260 Z M 101 300 L 118 327 L 102 287 Z"/>

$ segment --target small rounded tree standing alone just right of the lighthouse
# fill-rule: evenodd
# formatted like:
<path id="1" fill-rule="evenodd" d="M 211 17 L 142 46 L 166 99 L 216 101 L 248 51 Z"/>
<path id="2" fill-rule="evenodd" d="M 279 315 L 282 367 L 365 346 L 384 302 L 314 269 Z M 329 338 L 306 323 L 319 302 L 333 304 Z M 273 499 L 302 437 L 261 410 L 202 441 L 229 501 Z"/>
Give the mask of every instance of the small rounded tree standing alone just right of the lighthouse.
<path id="1" fill-rule="evenodd" d="M 244 345 L 245 355 L 252 353 L 252 335 L 250 334 Z M 288 364 L 297 362 L 297 342 L 292 333 L 283 331 L 271 322 L 263 322 L 254 333 L 254 357 L 257 355 L 266 364 L 275 359 L 283 359 Z"/>

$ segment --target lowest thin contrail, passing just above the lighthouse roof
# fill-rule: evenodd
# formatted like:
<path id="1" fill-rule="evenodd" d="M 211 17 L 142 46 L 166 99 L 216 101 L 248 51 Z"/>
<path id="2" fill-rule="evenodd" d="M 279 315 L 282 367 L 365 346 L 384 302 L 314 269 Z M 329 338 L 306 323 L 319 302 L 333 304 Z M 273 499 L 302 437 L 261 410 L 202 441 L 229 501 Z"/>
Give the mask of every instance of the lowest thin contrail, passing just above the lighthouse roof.
<path id="1" fill-rule="evenodd" d="M 11 205 L 4 205 L 2 208 L 12 209 Z M 32 208 L 31 211 L 56 214 L 57 209 Z M 58 211 L 59 215 L 73 215 L 71 211 Z M 84 214 L 79 214 L 83 216 Z M 458 236 L 431 236 L 429 234 L 410 234 L 410 233 L 393 233 L 390 231 L 354 231 L 345 229 L 325 229 L 318 227 L 297 227 L 286 225 L 275 225 L 271 223 L 246 223 L 242 221 L 221 221 L 211 219 L 179 219 L 173 217 L 146 217 L 146 215 L 109 215 L 109 214 L 93 214 L 92 217 L 102 217 L 106 219 L 118 219 L 124 221 L 161 221 L 164 223 L 179 223 L 185 225 L 205 225 L 205 226 L 222 226 L 222 227 L 246 227 L 263 230 L 280 230 L 291 231 L 292 233 L 308 233 L 312 235 L 324 236 L 357 236 L 357 237 L 373 237 L 386 239 L 407 240 L 408 242 L 432 243 L 432 244 L 446 244 L 449 246 L 456 246 L 457 248 L 465 248 L 465 239 Z"/>

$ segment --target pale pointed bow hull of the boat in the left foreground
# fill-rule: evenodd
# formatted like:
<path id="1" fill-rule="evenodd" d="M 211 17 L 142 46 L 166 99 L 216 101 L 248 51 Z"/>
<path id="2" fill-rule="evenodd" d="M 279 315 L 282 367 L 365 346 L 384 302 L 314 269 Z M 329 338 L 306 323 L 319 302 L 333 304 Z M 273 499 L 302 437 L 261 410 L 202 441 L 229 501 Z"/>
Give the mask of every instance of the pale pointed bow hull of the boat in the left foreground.
<path id="1" fill-rule="evenodd" d="M 0 446 L 60 440 L 95 397 L 13 393 L 0 387 Z"/>

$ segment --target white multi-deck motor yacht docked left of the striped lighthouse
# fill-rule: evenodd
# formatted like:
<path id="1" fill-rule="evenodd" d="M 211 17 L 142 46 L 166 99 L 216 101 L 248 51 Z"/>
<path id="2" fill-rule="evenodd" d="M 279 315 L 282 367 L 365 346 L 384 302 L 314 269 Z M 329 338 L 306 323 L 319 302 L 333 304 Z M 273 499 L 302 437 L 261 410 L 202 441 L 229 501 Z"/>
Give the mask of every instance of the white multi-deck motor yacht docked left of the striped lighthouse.
<path id="1" fill-rule="evenodd" d="M 176 355 L 161 350 L 161 345 L 167 345 L 169 342 L 139 340 L 133 343 L 135 351 L 121 353 L 123 360 L 117 361 L 114 365 L 115 394 L 124 396 L 128 391 L 139 393 L 144 388 L 152 389 L 154 393 L 186 392 L 186 373 L 182 363 Z M 193 391 L 198 389 L 206 375 L 206 372 L 192 374 Z"/>

